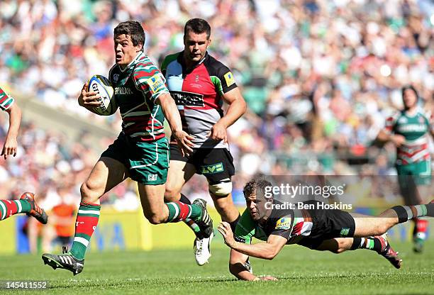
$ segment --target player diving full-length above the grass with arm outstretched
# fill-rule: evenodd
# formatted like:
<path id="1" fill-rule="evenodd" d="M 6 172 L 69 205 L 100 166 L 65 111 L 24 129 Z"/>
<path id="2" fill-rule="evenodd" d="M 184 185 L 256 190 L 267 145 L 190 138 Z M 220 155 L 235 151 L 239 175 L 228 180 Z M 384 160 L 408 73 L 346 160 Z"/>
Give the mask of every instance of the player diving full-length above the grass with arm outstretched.
<path id="1" fill-rule="evenodd" d="M 394 267 L 401 267 L 401 260 L 386 240 L 386 230 L 416 216 L 434 217 L 434 201 L 416 206 L 394 206 L 379 216 L 364 216 L 336 209 L 318 209 L 318 202 L 307 201 L 316 208 L 291 210 L 279 209 L 282 205 L 274 196 L 267 196 L 272 184 L 264 179 L 252 179 L 245 184 L 247 208 L 238 221 L 235 236 L 226 222 L 218 226 L 226 245 L 231 248 L 230 272 L 247 281 L 275 280 L 274 277 L 256 277 L 245 262 L 249 256 L 272 260 L 284 245 L 298 244 L 313 250 L 335 253 L 345 250 L 369 249 L 378 252 Z M 251 245 L 252 238 L 266 243 Z"/>

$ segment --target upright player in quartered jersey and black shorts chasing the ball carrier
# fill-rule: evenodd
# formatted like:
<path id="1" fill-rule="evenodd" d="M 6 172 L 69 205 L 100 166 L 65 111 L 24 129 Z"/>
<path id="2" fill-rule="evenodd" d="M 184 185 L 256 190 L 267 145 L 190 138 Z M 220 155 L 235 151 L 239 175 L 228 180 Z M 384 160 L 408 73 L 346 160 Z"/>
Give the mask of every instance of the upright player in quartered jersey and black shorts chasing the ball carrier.
<path id="1" fill-rule="evenodd" d="M 170 165 L 165 200 L 189 199 L 182 187 L 194 174 L 203 174 L 208 191 L 223 221 L 235 228 L 240 213 L 232 200 L 231 177 L 235 174 L 226 130 L 243 116 L 246 104 L 230 69 L 208 54 L 211 26 L 201 18 L 192 18 L 184 26 L 184 50 L 168 55 L 162 62 L 167 87 L 177 103 L 182 128 L 194 135 L 191 155 L 177 150 L 176 139 L 170 144 Z M 228 104 L 223 113 L 223 101 Z M 198 265 L 211 257 L 213 232 L 202 232 L 194 222 L 186 223 L 194 230 L 194 255 Z"/>

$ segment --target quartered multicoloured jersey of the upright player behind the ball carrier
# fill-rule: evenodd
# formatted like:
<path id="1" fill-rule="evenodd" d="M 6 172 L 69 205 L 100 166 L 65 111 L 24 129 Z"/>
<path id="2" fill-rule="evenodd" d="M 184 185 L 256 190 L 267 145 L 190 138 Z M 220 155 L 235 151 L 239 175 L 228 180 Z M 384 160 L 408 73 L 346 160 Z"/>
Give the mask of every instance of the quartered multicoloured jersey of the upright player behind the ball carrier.
<path id="1" fill-rule="evenodd" d="M 168 55 L 162 62 L 167 88 L 175 100 L 182 118 L 182 127 L 194 135 L 196 148 L 227 148 L 223 141 L 208 138 L 208 133 L 223 116 L 222 95 L 235 89 L 230 69 L 206 52 L 191 71 L 183 62 L 184 51 Z"/>

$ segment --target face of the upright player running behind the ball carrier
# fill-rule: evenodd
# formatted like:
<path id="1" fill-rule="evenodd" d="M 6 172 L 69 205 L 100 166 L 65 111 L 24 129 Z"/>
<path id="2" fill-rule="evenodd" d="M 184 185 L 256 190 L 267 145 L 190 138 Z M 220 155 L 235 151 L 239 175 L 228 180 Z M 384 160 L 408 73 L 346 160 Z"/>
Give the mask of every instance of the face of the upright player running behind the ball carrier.
<path id="1" fill-rule="evenodd" d="M 184 35 L 184 57 L 187 62 L 200 62 L 210 43 L 211 39 L 207 38 L 206 33 L 196 34 L 187 30 L 187 35 Z"/>

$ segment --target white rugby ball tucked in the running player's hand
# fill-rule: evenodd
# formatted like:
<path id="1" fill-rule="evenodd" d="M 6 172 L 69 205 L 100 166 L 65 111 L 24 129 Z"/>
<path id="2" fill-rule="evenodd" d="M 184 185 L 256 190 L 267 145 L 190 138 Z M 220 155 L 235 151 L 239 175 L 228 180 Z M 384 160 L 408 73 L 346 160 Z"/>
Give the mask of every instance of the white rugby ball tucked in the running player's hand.
<path id="1" fill-rule="evenodd" d="M 116 113 L 118 104 L 114 97 L 113 87 L 109 79 L 100 74 L 96 74 L 89 79 L 89 89 L 87 91 L 95 91 L 99 93 L 101 105 L 94 108 L 95 113 L 101 116 L 110 116 Z"/>

